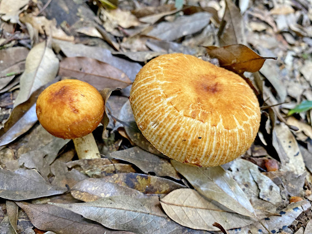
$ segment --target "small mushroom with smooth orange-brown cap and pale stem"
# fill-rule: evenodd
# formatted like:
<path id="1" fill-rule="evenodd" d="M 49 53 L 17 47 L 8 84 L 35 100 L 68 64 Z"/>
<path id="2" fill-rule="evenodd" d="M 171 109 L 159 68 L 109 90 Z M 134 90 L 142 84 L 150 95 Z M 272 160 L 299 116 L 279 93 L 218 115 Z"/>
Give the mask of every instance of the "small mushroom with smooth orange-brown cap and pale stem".
<path id="1" fill-rule="evenodd" d="M 104 114 L 104 100 L 92 85 L 66 79 L 38 97 L 36 113 L 42 127 L 55 137 L 73 139 L 79 159 L 100 157 L 93 130 Z"/>

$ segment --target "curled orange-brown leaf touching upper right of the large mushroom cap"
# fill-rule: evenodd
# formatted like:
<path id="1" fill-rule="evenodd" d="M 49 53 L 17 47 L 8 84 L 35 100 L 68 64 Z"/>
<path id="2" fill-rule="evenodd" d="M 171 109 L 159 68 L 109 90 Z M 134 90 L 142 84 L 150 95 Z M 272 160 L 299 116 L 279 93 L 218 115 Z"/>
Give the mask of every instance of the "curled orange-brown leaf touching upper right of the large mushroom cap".
<path id="1" fill-rule="evenodd" d="M 237 74 L 257 72 L 266 59 L 276 59 L 272 57 L 261 57 L 242 44 L 228 45 L 220 48 L 208 46 L 206 50 L 209 56 L 219 60 L 221 67 Z"/>

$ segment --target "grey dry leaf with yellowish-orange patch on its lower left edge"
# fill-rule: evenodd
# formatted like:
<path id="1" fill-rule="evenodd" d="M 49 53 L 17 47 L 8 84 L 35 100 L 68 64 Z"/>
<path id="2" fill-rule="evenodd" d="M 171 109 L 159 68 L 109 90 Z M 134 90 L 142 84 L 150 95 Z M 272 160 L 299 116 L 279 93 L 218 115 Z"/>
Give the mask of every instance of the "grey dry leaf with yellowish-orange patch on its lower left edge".
<path id="1" fill-rule="evenodd" d="M 117 183 L 103 181 L 98 178 L 89 178 L 75 184 L 71 189 L 71 195 L 78 200 L 87 202 L 115 195 L 139 197 L 144 194 L 136 189 L 128 188 Z"/>

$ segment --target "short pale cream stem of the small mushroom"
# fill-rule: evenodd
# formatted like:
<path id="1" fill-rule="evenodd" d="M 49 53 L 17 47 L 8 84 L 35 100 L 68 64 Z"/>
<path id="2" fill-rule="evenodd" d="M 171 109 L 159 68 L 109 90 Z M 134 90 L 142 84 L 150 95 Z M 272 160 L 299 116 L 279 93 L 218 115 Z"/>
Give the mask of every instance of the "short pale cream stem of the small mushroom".
<path id="1" fill-rule="evenodd" d="M 100 158 L 98 145 L 92 133 L 87 136 L 74 138 L 74 145 L 79 159 Z"/>

